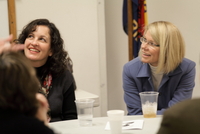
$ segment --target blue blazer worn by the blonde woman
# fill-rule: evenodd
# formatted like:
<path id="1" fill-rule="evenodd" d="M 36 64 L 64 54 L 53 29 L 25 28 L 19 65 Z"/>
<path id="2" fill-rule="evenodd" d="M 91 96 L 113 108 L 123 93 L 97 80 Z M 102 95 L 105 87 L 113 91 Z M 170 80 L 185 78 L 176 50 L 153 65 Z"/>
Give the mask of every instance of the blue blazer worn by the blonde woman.
<path id="1" fill-rule="evenodd" d="M 169 74 L 164 74 L 158 88 L 158 112 L 177 102 L 190 99 L 195 86 L 195 62 L 184 58 L 180 65 Z M 151 69 L 148 63 L 142 63 L 137 57 L 126 63 L 123 68 L 124 101 L 128 115 L 142 114 L 139 93 L 154 91 Z"/>

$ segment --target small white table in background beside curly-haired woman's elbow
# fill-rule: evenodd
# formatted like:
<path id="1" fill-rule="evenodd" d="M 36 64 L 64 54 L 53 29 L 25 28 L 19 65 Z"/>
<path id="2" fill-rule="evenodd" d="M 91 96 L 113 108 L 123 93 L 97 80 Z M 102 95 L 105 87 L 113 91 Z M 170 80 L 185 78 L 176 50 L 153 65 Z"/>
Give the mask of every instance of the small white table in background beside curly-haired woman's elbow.
<path id="1" fill-rule="evenodd" d="M 93 99 L 94 100 L 93 107 L 99 106 L 99 96 L 97 96 L 95 94 L 89 93 L 82 89 L 76 89 L 75 96 L 76 96 L 76 99 Z"/>

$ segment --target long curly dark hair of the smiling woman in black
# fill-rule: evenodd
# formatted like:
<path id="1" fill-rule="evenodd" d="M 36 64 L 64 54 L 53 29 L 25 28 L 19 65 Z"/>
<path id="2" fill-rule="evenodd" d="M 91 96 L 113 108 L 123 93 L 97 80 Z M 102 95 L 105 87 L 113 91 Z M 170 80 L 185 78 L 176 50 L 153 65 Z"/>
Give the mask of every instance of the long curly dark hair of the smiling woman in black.
<path id="1" fill-rule="evenodd" d="M 66 69 L 72 73 L 72 60 L 70 59 L 68 52 L 64 50 L 64 41 L 61 38 L 59 30 L 49 20 L 36 19 L 31 21 L 23 28 L 17 41 L 24 44 L 28 35 L 34 32 L 39 25 L 47 26 L 49 28 L 49 34 L 51 36 L 51 51 L 53 53 L 52 56 L 49 56 L 47 59 L 45 64 L 47 68 L 42 72 L 42 78 L 40 78 L 41 81 L 45 79 L 49 72 L 51 72 L 53 77 L 59 76 Z"/>

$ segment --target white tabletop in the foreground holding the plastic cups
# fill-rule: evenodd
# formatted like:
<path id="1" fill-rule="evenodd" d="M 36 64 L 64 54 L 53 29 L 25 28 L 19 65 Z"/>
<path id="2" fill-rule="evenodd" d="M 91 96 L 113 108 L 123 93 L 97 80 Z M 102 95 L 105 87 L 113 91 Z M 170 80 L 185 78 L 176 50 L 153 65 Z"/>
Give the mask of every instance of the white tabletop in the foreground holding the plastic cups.
<path id="1" fill-rule="evenodd" d="M 122 134 L 156 134 L 162 115 L 157 115 L 156 118 L 143 118 L 142 115 L 124 116 L 124 121 L 129 120 L 144 120 L 143 129 L 123 130 Z M 78 120 L 49 123 L 49 126 L 56 134 L 110 134 L 109 130 L 105 130 L 107 121 L 108 117 L 97 117 L 93 118 L 92 127 L 80 127 Z"/>

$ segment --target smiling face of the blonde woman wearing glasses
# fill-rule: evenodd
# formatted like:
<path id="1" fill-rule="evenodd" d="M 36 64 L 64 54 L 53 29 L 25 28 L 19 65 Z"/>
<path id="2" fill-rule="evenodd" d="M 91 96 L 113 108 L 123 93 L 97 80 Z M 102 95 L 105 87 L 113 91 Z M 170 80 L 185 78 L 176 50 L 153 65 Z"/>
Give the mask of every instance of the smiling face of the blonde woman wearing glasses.
<path id="1" fill-rule="evenodd" d="M 148 31 L 144 35 L 144 38 L 147 40 L 147 42 L 152 42 L 156 44 Z M 144 63 L 149 63 L 152 66 L 157 66 L 158 59 L 159 59 L 159 52 L 160 52 L 159 47 L 150 46 L 148 43 L 142 43 L 141 44 L 141 61 Z"/>

